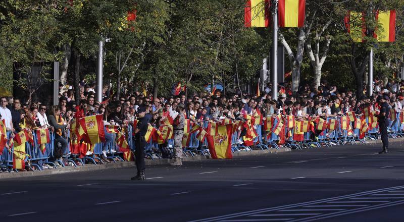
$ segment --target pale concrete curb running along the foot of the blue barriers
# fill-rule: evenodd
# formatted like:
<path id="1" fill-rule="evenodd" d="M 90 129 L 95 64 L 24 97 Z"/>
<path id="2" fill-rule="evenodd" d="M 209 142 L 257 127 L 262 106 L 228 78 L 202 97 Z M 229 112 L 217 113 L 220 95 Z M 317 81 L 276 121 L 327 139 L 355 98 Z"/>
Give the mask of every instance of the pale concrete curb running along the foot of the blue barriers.
<path id="1" fill-rule="evenodd" d="M 238 156 L 259 156 L 259 155 L 267 155 L 267 154 L 276 154 L 276 153 L 283 153 L 283 152 L 290 152 L 290 148 L 280 148 L 277 149 L 270 149 L 270 150 L 251 150 L 251 151 L 240 151 L 233 153 L 233 157 Z M 203 161 L 212 159 L 210 156 L 191 156 L 191 157 L 184 157 L 182 161 L 189 162 L 189 161 Z M 144 163 L 148 166 L 150 165 L 164 165 L 169 164 L 172 162 L 172 159 L 145 159 Z M 67 166 L 65 168 L 59 167 L 58 169 L 52 170 L 43 170 L 43 171 L 29 171 L 29 172 L 12 172 L 10 173 L 0 173 L 0 179 L 8 179 L 8 178 L 25 178 L 25 177 L 36 177 L 36 176 L 47 176 L 47 175 L 54 175 L 54 174 L 66 174 L 66 173 L 74 173 L 74 172 L 88 172 L 88 171 L 98 171 L 98 170 L 106 170 L 106 169 L 118 169 L 118 168 L 129 168 L 134 167 L 134 162 L 116 162 L 116 163 L 106 163 L 106 164 L 85 164 L 85 167 L 73 167 Z"/>

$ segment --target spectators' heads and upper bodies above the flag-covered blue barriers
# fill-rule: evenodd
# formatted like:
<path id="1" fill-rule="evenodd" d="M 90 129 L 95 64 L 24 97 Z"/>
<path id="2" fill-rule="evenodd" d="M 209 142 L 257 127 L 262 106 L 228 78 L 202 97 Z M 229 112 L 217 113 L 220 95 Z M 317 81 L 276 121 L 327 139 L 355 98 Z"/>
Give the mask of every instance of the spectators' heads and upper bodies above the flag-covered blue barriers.
<path id="1" fill-rule="evenodd" d="M 144 95 L 140 91 L 134 91 L 124 93 L 117 99 L 113 95 L 108 96 L 105 88 L 103 102 L 97 102 L 94 84 L 83 82 L 80 85 L 79 105 L 76 105 L 74 89 L 71 86 L 62 86 L 58 105 L 28 101 L 19 97 L 1 97 L 0 115 L 7 130 L 11 131 L 13 136 L 21 129 L 30 131 L 46 127 L 56 133 L 59 146 L 65 149 L 68 138 L 64 131 L 70 128 L 74 117 L 100 114 L 104 116 L 106 124 L 123 127 L 137 118 L 137 110 L 140 106 L 146 107 L 149 124 L 156 128 L 165 118 L 176 118 L 179 104 L 184 105 L 186 118 L 196 123 L 220 122 L 222 119 L 243 120 L 243 114 L 254 115 L 258 111 L 266 117 L 282 114 L 293 115 L 297 119 L 308 119 L 314 116 L 335 117 L 351 111 L 362 115 L 365 107 L 371 106 L 375 110 L 379 108 L 376 103 L 379 95 L 386 97 L 391 108 L 395 108 L 398 113 L 404 106 L 403 81 L 375 83 L 374 93 L 370 97 L 365 95 L 358 97 L 352 91 L 341 90 L 329 84 L 322 84 L 318 88 L 306 84 L 301 86 L 296 94 L 292 94 L 290 84 L 281 84 L 279 89 L 278 99 L 275 100 L 271 96 L 270 84 L 260 92 L 260 96 L 247 92 L 224 94 L 216 90 L 213 95 L 209 92 L 187 93 L 187 95 L 180 93 L 176 96 L 161 95 L 153 98 L 151 94 Z M 238 136 L 241 136 L 241 133 Z M 107 138 L 106 143 L 110 142 L 111 138 Z M 242 143 L 241 140 L 238 142 Z M 107 150 L 103 150 L 103 157 L 107 156 L 106 152 Z M 49 167 L 46 164 L 43 166 Z"/>

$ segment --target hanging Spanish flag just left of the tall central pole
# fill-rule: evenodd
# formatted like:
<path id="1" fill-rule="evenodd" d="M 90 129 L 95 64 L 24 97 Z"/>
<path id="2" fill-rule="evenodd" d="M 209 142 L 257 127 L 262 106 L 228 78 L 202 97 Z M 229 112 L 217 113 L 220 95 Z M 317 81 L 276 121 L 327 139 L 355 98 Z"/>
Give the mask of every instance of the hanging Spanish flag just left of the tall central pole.
<path id="1" fill-rule="evenodd" d="M 244 8 L 245 27 L 268 27 L 269 0 L 247 0 Z"/>

